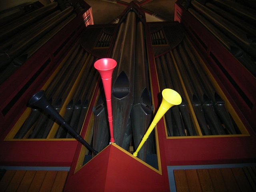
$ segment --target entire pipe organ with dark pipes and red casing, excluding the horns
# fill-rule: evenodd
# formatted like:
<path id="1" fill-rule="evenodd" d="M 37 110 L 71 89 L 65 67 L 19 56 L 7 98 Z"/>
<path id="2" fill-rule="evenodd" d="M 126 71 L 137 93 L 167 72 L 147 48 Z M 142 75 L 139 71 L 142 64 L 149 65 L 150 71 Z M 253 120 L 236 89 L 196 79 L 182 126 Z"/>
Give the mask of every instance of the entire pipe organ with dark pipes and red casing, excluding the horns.
<path id="1" fill-rule="evenodd" d="M 82 1 L 29 13 L 23 4 L 16 20 L 0 20 L 0 166 L 66 166 L 64 191 L 168 191 L 168 166 L 255 162 L 254 12 L 230 0 L 178 0 L 175 21 L 148 23 L 138 5 L 118 24 L 93 25 Z M 102 58 L 117 62 L 111 144 L 94 68 Z M 166 88 L 182 101 L 134 157 Z M 90 147 L 28 105 L 39 90 Z"/>

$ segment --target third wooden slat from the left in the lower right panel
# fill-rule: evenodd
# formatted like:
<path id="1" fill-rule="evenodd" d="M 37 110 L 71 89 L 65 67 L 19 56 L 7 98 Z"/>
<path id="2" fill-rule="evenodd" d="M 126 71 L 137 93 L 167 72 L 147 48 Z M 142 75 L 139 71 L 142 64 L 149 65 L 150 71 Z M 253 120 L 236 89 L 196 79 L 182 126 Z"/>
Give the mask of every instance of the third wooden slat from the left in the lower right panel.
<path id="1" fill-rule="evenodd" d="M 198 178 L 202 187 L 202 191 L 204 192 L 213 192 L 214 187 L 212 185 L 212 181 L 210 178 L 210 174 L 207 169 L 197 169 Z"/>

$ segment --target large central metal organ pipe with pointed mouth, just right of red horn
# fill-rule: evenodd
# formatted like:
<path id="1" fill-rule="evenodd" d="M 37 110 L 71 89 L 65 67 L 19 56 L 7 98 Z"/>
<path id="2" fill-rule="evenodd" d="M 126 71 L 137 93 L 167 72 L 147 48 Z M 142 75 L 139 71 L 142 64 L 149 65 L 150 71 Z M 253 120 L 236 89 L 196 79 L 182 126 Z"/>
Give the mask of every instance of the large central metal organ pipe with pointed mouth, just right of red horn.
<path id="1" fill-rule="evenodd" d="M 128 12 L 123 33 L 118 32 L 120 42 L 116 44 L 112 57 L 118 62 L 113 73 L 112 109 L 115 141 L 119 146 L 122 146 L 124 140 L 133 103 L 135 32 L 136 14 Z"/>

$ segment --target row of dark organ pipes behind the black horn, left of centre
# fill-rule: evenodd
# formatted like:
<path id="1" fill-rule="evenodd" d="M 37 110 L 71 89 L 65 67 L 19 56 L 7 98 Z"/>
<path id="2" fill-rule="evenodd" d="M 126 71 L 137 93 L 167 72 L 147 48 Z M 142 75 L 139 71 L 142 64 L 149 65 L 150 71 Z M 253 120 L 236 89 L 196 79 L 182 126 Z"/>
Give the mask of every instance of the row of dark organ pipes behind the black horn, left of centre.
<path id="1" fill-rule="evenodd" d="M 85 52 L 78 41 L 73 48 L 72 54 L 45 89 L 46 98 L 54 106 L 55 110 L 60 112 L 75 81 L 79 81 L 72 99 L 65 106 L 64 114 L 64 119 L 76 132 L 80 132 L 82 128 L 97 82 L 98 74 L 93 68 L 95 61 L 94 56 Z M 81 73 L 82 75 L 79 76 Z M 87 82 L 92 83 L 88 84 Z M 50 116 L 38 109 L 32 109 L 15 138 L 47 138 L 53 124 L 54 120 Z M 54 138 L 70 137 L 70 134 L 62 126 L 56 130 L 54 136 Z"/>

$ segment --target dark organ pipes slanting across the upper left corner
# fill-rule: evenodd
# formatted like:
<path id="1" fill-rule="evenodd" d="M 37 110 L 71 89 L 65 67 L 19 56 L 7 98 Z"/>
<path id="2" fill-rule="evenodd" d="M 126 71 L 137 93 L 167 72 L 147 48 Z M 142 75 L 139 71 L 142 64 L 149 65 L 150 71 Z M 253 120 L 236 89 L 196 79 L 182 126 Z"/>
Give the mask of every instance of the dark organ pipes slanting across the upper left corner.
<path id="1" fill-rule="evenodd" d="M 27 7 L 25 4 L 20 8 L 18 18 L 0 20 L 0 84 L 77 16 L 73 6 L 64 6 L 62 10 L 57 2 L 25 14 Z"/>

